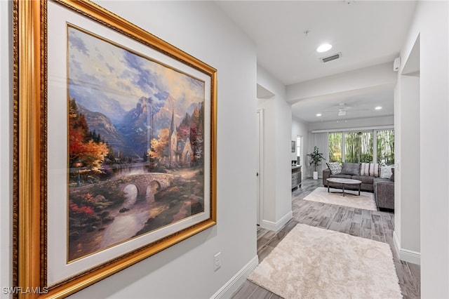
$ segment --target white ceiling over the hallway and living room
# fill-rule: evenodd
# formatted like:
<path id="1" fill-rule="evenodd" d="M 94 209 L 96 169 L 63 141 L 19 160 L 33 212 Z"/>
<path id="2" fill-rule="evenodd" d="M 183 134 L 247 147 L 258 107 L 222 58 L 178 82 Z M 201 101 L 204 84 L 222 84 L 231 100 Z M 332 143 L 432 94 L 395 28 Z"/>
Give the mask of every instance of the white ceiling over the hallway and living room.
<path id="1" fill-rule="evenodd" d="M 254 41 L 257 64 L 286 86 L 386 62 L 391 62 L 393 69 L 416 6 L 416 1 L 357 0 L 216 3 Z M 316 52 L 323 43 L 333 48 Z M 341 58 L 326 63 L 319 60 L 335 53 L 341 53 Z M 294 117 L 313 123 L 391 116 L 393 99 L 390 84 L 360 92 L 287 100 L 293 103 Z M 338 116 L 342 103 L 347 113 Z M 375 110 L 377 105 L 382 109 Z M 322 116 L 316 117 L 319 112 Z"/>

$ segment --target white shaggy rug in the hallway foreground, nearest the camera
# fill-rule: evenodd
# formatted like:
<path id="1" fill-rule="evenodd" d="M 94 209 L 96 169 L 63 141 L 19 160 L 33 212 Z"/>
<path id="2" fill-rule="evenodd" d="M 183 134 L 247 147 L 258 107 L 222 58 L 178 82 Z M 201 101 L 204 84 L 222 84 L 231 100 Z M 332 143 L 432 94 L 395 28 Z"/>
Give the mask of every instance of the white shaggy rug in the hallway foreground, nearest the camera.
<path id="1" fill-rule="evenodd" d="M 303 224 L 248 279 L 286 299 L 402 298 L 388 244 Z"/>

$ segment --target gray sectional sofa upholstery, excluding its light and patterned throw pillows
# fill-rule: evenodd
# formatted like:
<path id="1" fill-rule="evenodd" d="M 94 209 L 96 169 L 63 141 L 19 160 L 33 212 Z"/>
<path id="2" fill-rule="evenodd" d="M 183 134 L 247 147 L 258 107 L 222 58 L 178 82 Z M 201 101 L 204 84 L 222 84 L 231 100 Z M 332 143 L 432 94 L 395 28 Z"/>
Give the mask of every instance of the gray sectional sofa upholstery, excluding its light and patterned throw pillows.
<path id="1" fill-rule="evenodd" d="M 323 185 L 328 187 L 328 178 L 351 178 L 360 180 L 361 191 L 374 193 L 377 208 L 394 209 L 394 168 L 391 168 L 393 175 L 391 178 L 379 178 L 371 175 L 360 174 L 361 164 L 359 163 L 343 163 L 342 173 L 331 174 L 330 169 L 323 170 Z M 338 184 L 329 184 L 330 187 L 339 187 Z M 344 189 L 358 190 L 358 187 L 345 186 Z"/>

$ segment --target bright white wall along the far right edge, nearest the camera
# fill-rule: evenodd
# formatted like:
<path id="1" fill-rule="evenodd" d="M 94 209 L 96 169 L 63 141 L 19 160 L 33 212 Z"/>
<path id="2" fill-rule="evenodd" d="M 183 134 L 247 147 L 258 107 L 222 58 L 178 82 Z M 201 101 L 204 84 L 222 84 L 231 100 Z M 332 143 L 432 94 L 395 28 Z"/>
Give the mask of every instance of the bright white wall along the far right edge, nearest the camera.
<path id="1" fill-rule="evenodd" d="M 422 298 L 449 298 L 448 11 L 448 1 L 419 1 L 401 50 L 401 58 L 407 58 L 420 36 Z M 398 76 L 398 84 L 401 84 L 401 76 Z M 400 101 L 401 105 L 407 105 L 406 98 Z M 402 142 L 401 146 L 406 145 Z M 402 160 L 400 164 L 406 162 Z M 405 180 L 401 183 L 408 184 Z M 402 216 L 404 212 L 401 211 Z"/>

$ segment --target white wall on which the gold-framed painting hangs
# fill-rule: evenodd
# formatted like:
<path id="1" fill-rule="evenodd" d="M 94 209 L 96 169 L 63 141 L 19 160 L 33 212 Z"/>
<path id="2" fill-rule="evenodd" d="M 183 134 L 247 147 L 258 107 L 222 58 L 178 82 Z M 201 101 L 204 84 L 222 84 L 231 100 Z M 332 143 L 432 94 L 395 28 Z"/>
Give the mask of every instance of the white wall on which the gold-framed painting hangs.
<path id="1" fill-rule="evenodd" d="M 73 298 L 210 298 L 248 263 L 257 263 L 255 208 L 255 46 L 206 1 L 103 1 L 102 6 L 218 70 L 217 225 Z M 11 39 L 1 5 L 1 286 L 11 286 Z M 136 13 L 138 12 L 138 13 Z M 10 19 L 11 20 L 11 19 Z M 288 133 L 290 139 L 290 132 Z M 221 251 L 222 267 L 213 271 Z M 251 264 L 253 265 L 253 264 Z M 229 294 L 228 294 L 229 295 Z"/>

